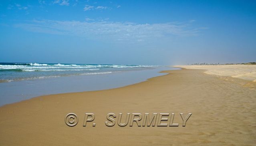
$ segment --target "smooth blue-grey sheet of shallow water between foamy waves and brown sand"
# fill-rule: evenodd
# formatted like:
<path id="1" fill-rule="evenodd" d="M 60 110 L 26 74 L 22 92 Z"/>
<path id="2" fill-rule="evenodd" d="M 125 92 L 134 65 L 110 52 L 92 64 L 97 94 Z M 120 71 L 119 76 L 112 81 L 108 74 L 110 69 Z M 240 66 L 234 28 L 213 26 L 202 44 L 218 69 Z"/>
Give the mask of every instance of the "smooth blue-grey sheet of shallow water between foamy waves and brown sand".
<path id="1" fill-rule="evenodd" d="M 157 67 L 145 70 L 113 72 L 111 74 L 91 74 L 44 78 L 39 80 L 22 80 L 0 83 L 0 106 L 11 104 L 37 96 L 106 90 L 135 84 L 148 78 L 161 76 L 161 70 L 173 69 Z"/>

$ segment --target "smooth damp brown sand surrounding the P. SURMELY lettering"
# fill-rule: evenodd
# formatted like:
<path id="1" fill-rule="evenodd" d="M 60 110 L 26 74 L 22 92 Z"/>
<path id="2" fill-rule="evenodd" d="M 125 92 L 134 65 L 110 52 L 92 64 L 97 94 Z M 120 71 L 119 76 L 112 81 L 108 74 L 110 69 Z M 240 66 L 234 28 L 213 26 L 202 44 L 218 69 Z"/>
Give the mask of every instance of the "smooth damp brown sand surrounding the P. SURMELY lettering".
<path id="1" fill-rule="evenodd" d="M 0 145 L 255 145 L 256 83 L 173 70 L 148 81 L 92 92 L 40 96 L 0 107 Z M 74 112 L 79 123 L 65 124 Z M 96 127 L 83 127 L 85 112 Z M 179 127 L 105 126 L 114 113 L 175 113 Z M 191 112 L 182 127 L 178 115 Z"/>

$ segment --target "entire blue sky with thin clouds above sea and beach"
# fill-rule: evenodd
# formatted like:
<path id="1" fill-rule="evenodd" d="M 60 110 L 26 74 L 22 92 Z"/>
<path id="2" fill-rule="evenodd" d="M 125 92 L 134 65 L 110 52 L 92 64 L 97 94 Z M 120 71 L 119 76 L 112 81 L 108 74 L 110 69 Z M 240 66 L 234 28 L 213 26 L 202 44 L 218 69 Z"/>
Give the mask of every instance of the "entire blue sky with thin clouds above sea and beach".
<path id="1" fill-rule="evenodd" d="M 256 62 L 256 0 L 2 0 L 0 62 Z"/>

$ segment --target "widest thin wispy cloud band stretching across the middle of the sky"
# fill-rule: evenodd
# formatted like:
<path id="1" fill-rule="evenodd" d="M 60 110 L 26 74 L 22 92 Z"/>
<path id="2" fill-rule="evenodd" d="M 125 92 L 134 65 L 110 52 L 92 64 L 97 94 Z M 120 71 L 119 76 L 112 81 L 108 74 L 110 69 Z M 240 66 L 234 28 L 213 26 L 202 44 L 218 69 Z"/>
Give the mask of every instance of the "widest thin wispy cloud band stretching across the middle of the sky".
<path id="1" fill-rule="evenodd" d="M 89 19 L 88 19 L 89 20 Z M 200 28 L 183 23 L 135 24 L 124 22 L 80 22 L 34 20 L 16 24 L 16 27 L 32 32 L 75 35 L 88 39 L 110 41 L 151 41 L 168 40 L 177 36 L 195 36 Z"/>

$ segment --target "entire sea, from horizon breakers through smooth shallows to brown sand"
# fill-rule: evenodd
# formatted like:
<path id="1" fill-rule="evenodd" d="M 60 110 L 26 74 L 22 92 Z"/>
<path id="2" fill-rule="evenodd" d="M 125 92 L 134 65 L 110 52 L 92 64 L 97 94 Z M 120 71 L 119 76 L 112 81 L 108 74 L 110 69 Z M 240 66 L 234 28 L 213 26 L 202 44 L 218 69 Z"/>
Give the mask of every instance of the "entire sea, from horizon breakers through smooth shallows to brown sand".
<path id="1" fill-rule="evenodd" d="M 161 76 L 155 65 L 0 63 L 0 106 L 36 96 L 106 90 Z M 121 97 L 120 97 L 121 98 Z"/>

